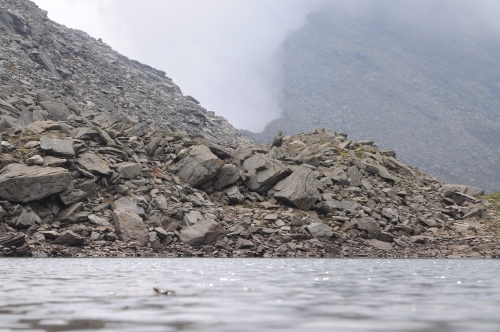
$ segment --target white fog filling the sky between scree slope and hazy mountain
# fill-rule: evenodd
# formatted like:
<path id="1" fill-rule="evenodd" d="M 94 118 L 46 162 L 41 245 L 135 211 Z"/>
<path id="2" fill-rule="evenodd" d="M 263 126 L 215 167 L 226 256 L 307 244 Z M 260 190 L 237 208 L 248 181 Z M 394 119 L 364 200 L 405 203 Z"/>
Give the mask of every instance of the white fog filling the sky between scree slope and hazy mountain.
<path id="1" fill-rule="evenodd" d="M 496 0 L 35 0 L 49 17 L 164 70 L 184 94 L 235 127 L 280 116 L 280 45 L 307 15 L 386 11 L 422 26 L 500 30 Z"/>

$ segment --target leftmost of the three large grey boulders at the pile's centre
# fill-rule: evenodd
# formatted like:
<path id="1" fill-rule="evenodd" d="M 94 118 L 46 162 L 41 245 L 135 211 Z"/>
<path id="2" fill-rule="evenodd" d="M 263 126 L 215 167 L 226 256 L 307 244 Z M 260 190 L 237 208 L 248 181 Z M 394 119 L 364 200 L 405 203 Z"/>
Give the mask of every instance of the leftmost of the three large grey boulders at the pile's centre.
<path id="1" fill-rule="evenodd" d="M 189 149 L 178 164 L 177 176 L 192 187 L 199 187 L 211 181 L 222 167 L 222 160 L 217 158 L 205 145 L 196 145 Z"/>

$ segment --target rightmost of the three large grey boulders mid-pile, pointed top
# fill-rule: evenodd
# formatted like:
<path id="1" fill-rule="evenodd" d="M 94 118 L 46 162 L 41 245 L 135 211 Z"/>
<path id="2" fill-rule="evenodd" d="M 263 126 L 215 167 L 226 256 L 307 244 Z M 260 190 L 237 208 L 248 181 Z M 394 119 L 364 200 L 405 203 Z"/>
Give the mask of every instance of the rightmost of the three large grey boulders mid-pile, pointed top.
<path id="1" fill-rule="evenodd" d="M 274 199 L 279 202 L 291 204 L 301 210 L 307 211 L 320 198 L 316 178 L 318 172 L 301 166 L 289 177 L 281 180 L 275 187 Z"/>

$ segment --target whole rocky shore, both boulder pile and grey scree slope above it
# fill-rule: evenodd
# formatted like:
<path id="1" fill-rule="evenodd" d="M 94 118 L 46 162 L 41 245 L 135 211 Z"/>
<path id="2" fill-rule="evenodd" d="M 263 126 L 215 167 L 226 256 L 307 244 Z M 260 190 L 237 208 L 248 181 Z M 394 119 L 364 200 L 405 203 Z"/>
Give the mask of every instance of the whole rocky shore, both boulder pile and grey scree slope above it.
<path id="1" fill-rule="evenodd" d="M 2 257 L 500 255 L 483 190 L 322 128 L 252 144 L 32 2 L 0 11 Z"/>

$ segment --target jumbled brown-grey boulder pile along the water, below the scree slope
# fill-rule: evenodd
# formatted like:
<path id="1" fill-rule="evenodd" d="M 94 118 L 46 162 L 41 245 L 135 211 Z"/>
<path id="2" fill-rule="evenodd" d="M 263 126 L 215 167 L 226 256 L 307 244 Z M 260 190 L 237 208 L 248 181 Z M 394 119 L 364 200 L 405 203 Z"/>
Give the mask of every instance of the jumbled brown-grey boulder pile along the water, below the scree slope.
<path id="1" fill-rule="evenodd" d="M 73 114 L 4 130 L 1 254 L 500 255 L 482 190 L 443 183 L 371 141 L 320 128 L 221 145 L 134 128 Z"/>

